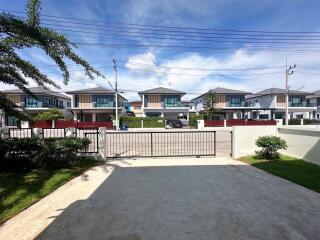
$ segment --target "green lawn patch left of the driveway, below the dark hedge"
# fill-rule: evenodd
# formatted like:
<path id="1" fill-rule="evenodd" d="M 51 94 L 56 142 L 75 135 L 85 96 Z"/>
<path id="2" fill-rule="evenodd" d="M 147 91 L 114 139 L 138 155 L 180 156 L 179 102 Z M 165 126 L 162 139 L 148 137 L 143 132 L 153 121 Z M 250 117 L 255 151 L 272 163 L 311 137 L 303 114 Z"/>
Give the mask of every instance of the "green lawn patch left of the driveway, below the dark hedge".
<path id="1" fill-rule="evenodd" d="M 0 172 L 0 224 L 97 164 L 83 158 L 77 166 L 65 169 Z"/>

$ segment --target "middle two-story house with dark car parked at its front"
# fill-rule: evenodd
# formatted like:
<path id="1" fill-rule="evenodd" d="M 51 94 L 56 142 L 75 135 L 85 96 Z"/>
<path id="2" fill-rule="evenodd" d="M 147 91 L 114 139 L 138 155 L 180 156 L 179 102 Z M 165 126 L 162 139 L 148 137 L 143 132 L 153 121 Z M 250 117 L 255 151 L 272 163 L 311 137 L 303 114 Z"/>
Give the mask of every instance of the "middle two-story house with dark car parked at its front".
<path id="1" fill-rule="evenodd" d="M 141 110 L 144 117 L 161 116 L 171 120 L 183 115 L 189 120 L 189 107 L 181 102 L 185 92 L 158 87 L 138 92 L 138 94 L 142 99 Z"/>

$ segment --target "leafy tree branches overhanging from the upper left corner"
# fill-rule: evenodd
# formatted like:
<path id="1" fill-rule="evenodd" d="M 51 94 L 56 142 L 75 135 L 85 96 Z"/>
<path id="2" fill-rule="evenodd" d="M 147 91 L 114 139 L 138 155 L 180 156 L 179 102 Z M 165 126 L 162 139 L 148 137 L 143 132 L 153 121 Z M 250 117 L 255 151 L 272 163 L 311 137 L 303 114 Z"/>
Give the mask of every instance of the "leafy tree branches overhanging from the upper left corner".
<path id="1" fill-rule="evenodd" d="M 0 81 L 14 85 L 26 94 L 33 97 L 34 94 L 27 88 L 31 78 L 40 87 L 59 86 L 34 66 L 30 61 L 23 59 L 16 53 L 17 49 L 36 47 L 42 49 L 60 68 L 64 83 L 70 78 L 66 64 L 69 59 L 84 67 L 86 75 L 93 79 L 93 75 L 102 76 L 85 59 L 74 51 L 76 44 L 69 41 L 64 35 L 49 28 L 40 26 L 40 0 L 28 0 L 27 18 L 8 13 L 0 13 Z M 21 111 L 17 111 L 12 102 L 0 95 L 0 109 L 18 118 L 25 117 Z"/>

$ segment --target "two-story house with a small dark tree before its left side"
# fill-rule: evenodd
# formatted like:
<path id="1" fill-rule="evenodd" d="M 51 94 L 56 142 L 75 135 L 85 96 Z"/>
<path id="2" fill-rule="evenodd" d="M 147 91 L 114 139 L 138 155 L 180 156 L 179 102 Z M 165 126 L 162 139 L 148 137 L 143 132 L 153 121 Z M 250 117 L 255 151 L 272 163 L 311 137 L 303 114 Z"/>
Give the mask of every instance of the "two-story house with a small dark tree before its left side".
<path id="1" fill-rule="evenodd" d="M 207 101 L 206 95 L 208 93 L 215 94 L 215 108 L 217 113 L 216 118 L 219 119 L 242 119 L 248 118 L 253 106 L 246 104 L 245 96 L 251 94 L 250 92 L 217 87 L 208 92 L 192 99 L 195 105 L 195 111 L 200 113 L 204 110 L 204 104 Z"/>

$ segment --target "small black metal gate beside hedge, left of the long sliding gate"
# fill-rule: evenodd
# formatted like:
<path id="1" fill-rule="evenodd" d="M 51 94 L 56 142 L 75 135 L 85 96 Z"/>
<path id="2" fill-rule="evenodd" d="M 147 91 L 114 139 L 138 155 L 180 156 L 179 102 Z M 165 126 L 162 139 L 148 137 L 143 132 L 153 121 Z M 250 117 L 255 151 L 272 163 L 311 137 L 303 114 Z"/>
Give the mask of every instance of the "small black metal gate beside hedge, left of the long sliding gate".
<path id="1" fill-rule="evenodd" d="M 90 144 L 82 153 L 98 153 L 99 152 L 99 129 L 98 128 L 77 128 L 76 137 L 88 138 Z"/>

